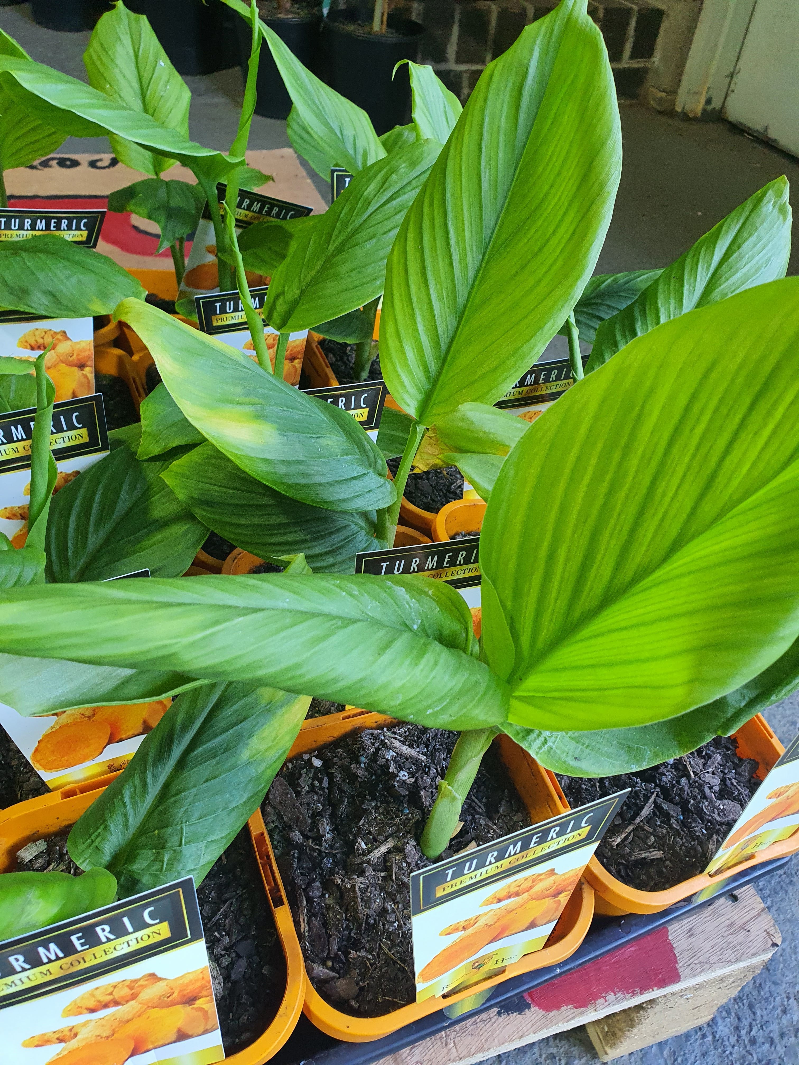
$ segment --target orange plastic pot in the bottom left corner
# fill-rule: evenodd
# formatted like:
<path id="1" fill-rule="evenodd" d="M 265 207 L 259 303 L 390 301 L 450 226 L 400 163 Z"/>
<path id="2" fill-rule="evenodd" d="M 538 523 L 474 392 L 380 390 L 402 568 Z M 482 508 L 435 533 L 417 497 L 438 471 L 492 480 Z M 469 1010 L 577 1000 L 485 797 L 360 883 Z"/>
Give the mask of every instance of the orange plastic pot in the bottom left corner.
<path id="1" fill-rule="evenodd" d="M 116 775 L 112 773 L 9 807 L 4 812 L 6 816 L 0 820 L 0 873 L 9 872 L 14 867 L 16 853 L 26 843 L 71 829 Z M 294 1031 L 303 1009 L 306 977 L 303 953 L 260 809 L 250 817 L 247 826 L 286 957 L 286 992 L 277 1015 L 266 1031 L 244 1050 L 231 1054 L 225 1061 L 233 1062 L 234 1065 L 263 1065 L 263 1062 L 277 1053 Z"/>

